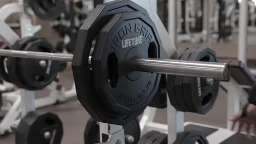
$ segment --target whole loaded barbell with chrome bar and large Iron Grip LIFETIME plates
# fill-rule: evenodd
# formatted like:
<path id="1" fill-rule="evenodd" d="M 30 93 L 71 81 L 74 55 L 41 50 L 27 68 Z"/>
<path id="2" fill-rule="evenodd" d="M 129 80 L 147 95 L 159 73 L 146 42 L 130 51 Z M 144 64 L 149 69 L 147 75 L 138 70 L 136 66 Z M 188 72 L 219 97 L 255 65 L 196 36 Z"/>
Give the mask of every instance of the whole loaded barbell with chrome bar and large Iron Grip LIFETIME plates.
<path id="1" fill-rule="evenodd" d="M 100 4 L 92 11 L 79 29 L 74 55 L 17 50 L 0 50 L 0 55 L 72 61 L 80 103 L 96 121 L 117 125 L 143 112 L 158 91 L 161 74 L 230 77 L 228 64 L 161 59 L 161 50 L 147 11 L 124 0 Z"/>

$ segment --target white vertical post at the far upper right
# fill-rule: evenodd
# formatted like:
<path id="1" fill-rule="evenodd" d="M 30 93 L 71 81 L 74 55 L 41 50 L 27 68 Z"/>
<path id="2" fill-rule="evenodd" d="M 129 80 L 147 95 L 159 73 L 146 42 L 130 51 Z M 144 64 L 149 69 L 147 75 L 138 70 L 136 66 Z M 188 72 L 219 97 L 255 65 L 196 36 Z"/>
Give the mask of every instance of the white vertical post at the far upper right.
<path id="1" fill-rule="evenodd" d="M 247 59 L 247 31 L 248 27 L 248 0 L 240 3 L 239 32 L 238 32 L 238 60 L 246 64 Z"/>

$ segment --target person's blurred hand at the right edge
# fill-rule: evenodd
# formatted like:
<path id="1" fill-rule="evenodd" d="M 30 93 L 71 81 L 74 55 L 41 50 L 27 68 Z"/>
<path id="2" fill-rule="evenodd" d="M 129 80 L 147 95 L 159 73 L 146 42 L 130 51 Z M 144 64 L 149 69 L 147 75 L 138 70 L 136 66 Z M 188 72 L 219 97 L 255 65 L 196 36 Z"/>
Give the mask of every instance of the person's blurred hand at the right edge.
<path id="1" fill-rule="evenodd" d="M 234 115 L 229 120 L 232 121 L 231 130 L 234 130 L 236 123 L 239 123 L 237 134 L 240 135 L 241 129 L 246 127 L 247 139 L 250 139 L 250 131 L 253 130 L 253 133 L 256 134 L 256 106 L 249 104 L 246 110 L 246 117 L 242 116 L 242 110 L 236 115 Z"/>

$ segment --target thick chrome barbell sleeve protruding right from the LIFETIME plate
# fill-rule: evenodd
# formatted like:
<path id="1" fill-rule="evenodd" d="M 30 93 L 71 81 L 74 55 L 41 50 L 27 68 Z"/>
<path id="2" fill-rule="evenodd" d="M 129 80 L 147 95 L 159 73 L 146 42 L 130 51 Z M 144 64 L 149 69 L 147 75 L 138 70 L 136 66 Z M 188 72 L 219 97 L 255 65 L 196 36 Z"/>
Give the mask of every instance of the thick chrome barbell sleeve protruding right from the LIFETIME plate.
<path id="1" fill-rule="evenodd" d="M 132 70 L 168 75 L 184 75 L 228 80 L 230 67 L 226 63 L 177 61 L 171 59 L 136 58 L 131 62 Z"/>

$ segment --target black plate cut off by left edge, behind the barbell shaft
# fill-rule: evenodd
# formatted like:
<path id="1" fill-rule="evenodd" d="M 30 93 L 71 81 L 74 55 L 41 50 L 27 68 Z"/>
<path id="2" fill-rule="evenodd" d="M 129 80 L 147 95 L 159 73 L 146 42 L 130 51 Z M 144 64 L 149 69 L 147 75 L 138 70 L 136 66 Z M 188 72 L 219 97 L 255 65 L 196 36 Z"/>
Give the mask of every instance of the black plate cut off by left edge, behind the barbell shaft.
<path id="1" fill-rule="evenodd" d="M 5 50 L 9 50 L 9 47 L 4 47 Z M 8 69 L 7 69 L 7 59 L 8 57 L 0 56 L 0 77 L 7 82 L 11 82 L 8 76 Z"/>

